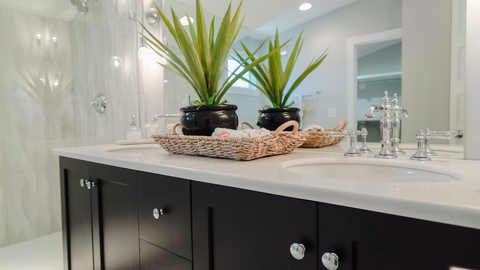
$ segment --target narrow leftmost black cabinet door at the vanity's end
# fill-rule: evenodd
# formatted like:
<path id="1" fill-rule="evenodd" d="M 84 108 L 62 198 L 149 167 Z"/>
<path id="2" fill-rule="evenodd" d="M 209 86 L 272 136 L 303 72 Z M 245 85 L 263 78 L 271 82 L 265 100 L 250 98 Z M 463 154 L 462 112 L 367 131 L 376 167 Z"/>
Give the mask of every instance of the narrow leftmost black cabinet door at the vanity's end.
<path id="1" fill-rule="evenodd" d="M 64 268 L 93 268 L 92 216 L 87 162 L 60 158 Z"/>

